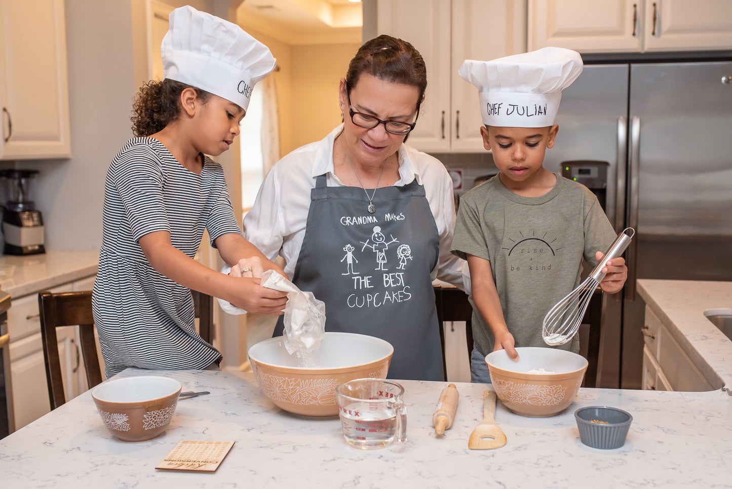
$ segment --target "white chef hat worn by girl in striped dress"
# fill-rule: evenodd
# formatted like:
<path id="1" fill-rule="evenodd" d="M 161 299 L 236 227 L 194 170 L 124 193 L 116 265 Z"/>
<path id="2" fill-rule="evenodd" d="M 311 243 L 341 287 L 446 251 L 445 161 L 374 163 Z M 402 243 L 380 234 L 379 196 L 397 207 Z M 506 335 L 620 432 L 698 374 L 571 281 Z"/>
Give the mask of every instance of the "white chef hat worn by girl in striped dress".
<path id="1" fill-rule="evenodd" d="M 190 5 L 169 17 L 160 45 L 163 78 L 187 83 L 247 110 L 255 83 L 275 69 L 269 48 L 235 23 Z"/>

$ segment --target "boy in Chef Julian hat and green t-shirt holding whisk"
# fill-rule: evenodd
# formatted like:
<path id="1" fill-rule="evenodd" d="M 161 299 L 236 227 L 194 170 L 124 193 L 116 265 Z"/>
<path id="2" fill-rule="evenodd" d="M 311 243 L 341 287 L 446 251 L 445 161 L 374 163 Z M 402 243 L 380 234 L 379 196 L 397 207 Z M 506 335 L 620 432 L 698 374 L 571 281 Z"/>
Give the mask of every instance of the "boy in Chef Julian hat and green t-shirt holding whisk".
<path id="1" fill-rule="evenodd" d="M 561 90 L 582 72 L 575 51 L 543 48 L 493 61 L 466 60 L 460 76 L 477 86 L 485 149 L 500 173 L 460 199 L 452 253 L 468 261 L 474 348 L 471 381 L 489 383 L 485 355 L 547 346 L 542 320 L 580 283 L 582 258 L 597 265 L 616 237 L 586 187 L 542 167 L 559 126 Z M 608 261 L 600 286 L 619 291 L 624 258 Z M 558 348 L 579 351 L 578 337 Z"/>

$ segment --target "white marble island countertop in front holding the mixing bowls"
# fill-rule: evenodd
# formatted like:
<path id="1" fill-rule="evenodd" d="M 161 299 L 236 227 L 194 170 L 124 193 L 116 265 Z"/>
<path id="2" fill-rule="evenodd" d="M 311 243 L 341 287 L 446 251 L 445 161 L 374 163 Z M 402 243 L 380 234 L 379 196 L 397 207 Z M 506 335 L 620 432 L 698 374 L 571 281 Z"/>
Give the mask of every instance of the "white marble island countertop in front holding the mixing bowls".
<path id="1" fill-rule="evenodd" d="M 184 390 L 171 426 L 143 443 L 117 441 L 85 392 L 0 440 L 9 488 L 732 488 L 732 397 L 712 392 L 580 389 L 555 417 L 518 416 L 498 403 L 508 442 L 468 449 L 482 419 L 483 384 L 457 383 L 455 422 L 444 436 L 431 417 L 446 382 L 401 381 L 408 441 L 361 451 L 343 440 L 340 422 L 304 419 L 275 407 L 251 373 L 125 370 L 165 375 Z M 607 405 L 632 414 L 623 447 L 580 442 L 574 411 Z M 235 441 L 213 474 L 154 469 L 181 440 Z"/>

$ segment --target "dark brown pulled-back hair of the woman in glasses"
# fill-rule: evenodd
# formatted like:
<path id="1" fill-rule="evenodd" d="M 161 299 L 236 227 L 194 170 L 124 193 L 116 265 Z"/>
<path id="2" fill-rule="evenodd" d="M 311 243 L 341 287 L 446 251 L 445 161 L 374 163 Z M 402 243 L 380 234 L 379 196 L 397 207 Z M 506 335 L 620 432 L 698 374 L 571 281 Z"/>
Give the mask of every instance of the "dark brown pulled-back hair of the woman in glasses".
<path id="1" fill-rule="evenodd" d="M 386 34 L 365 42 L 348 64 L 346 72 L 348 94 L 351 94 L 351 89 L 359 83 L 359 77 L 363 74 L 391 83 L 416 86 L 419 89 L 417 97 L 417 110 L 419 110 L 419 104 L 425 97 L 427 89 L 427 68 L 422 55 L 413 45 Z"/>

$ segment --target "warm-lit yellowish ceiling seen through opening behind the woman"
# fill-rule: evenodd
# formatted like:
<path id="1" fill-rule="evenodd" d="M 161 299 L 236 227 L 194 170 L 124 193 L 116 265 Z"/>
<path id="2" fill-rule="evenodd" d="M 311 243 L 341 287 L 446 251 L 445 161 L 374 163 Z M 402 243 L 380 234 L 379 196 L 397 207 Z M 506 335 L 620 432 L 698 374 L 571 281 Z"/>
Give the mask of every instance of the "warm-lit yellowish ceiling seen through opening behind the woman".
<path id="1" fill-rule="evenodd" d="M 349 0 L 244 0 L 236 10 L 247 29 L 290 45 L 361 43 L 362 6 Z"/>

